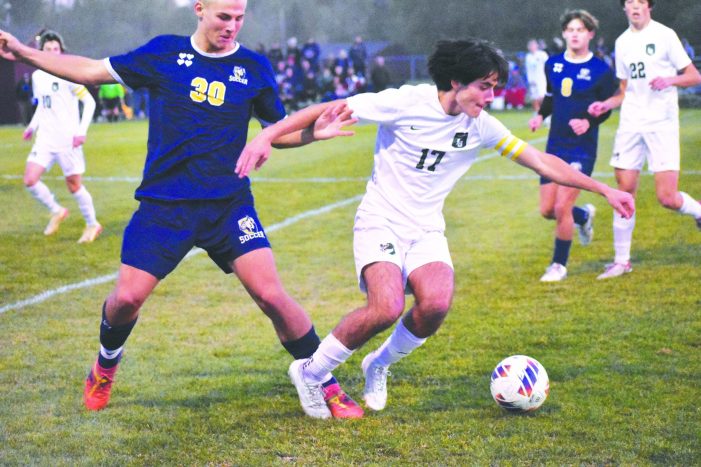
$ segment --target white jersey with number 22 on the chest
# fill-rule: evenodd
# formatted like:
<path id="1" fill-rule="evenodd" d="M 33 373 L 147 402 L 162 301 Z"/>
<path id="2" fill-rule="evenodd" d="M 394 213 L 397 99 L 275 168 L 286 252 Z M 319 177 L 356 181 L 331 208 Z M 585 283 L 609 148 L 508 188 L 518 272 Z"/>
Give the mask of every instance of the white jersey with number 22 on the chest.
<path id="1" fill-rule="evenodd" d="M 628 28 L 616 39 L 616 76 L 627 80 L 619 131 L 652 131 L 660 125 L 678 125 L 677 87 L 650 88 L 657 77 L 676 76 L 691 59 L 677 34 L 656 21 L 642 31 Z"/>

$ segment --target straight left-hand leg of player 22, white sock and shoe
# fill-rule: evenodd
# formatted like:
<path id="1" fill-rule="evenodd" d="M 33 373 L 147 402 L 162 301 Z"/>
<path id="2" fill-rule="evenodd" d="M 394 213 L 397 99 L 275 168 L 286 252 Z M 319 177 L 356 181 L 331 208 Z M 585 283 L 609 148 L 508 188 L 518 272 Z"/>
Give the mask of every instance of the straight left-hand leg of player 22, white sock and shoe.
<path id="1" fill-rule="evenodd" d="M 638 191 L 640 172 L 638 170 L 615 169 L 618 189 L 627 191 L 635 196 Z M 630 248 L 633 243 L 635 229 L 635 214 L 625 219 L 616 211 L 613 212 L 613 263 L 606 265 L 604 272 L 597 279 L 610 279 L 622 276 L 633 270 L 630 263 Z"/>

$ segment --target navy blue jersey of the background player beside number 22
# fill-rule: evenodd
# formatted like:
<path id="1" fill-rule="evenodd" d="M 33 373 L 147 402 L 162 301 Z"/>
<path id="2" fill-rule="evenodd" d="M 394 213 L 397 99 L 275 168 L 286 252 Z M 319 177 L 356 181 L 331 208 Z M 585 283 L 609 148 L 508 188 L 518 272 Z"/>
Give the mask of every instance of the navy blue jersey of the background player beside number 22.
<path id="1" fill-rule="evenodd" d="M 581 62 L 565 58 L 564 53 L 554 55 L 545 63 L 548 80 L 546 99 L 552 99 L 552 119 L 546 151 L 558 156 L 570 153 L 596 158 L 599 123 L 587 108 L 594 101 L 602 101 L 613 95 L 615 81 L 611 68 L 593 55 Z M 577 136 L 569 125 L 573 118 L 587 118 L 589 131 Z"/>

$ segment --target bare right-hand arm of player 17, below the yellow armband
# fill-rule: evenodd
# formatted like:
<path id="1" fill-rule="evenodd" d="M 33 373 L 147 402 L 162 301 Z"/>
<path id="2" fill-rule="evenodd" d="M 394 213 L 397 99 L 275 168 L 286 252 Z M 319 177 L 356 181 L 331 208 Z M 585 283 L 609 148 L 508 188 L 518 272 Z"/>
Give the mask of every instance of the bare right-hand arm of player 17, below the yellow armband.
<path id="1" fill-rule="evenodd" d="M 630 193 L 617 190 L 584 175 L 557 156 L 544 153 L 528 145 L 521 155 L 518 156 L 516 162 L 560 185 L 571 186 L 604 196 L 611 207 L 626 219 L 629 219 L 635 212 L 635 200 Z"/>

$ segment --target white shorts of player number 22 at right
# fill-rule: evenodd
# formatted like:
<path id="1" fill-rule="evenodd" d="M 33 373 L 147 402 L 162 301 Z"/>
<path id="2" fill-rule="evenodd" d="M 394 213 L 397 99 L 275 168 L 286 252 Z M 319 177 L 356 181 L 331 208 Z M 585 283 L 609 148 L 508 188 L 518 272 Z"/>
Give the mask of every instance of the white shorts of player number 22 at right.
<path id="1" fill-rule="evenodd" d="M 679 128 L 654 132 L 618 132 L 613 143 L 611 165 L 617 169 L 642 170 L 647 160 L 651 172 L 679 172 Z"/>

